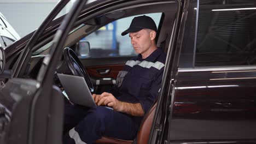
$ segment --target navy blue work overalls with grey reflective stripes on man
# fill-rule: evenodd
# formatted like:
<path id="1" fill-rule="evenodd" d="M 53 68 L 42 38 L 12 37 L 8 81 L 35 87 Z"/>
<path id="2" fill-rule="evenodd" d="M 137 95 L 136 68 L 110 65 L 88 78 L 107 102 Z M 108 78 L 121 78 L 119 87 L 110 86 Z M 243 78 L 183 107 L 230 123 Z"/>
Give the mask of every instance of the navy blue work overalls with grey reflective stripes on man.
<path id="1" fill-rule="evenodd" d="M 110 93 L 120 101 L 140 103 L 147 113 L 158 97 L 165 59 L 165 53 L 157 49 L 146 59 L 138 55 L 127 61 L 118 75 L 117 87 Z M 102 135 L 133 140 L 142 118 L 104 106 L 66 105 L 64 129 L 70 130 L 63 136 L 63 143 L 93 143 Z"/>

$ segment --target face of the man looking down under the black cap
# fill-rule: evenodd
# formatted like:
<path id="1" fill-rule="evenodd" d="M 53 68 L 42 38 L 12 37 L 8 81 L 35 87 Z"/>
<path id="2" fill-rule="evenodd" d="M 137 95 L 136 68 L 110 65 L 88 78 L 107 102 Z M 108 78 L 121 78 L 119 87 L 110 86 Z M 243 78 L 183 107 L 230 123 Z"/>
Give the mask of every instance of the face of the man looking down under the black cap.
<path id="1" fill-rule="evenodd" d="M 131 38 L 133 49 L 136 51 L 136 53 L 141 55 L 143 55 L 143 53 L 147 53 L 152 45 L 150 33 L 146 29 L 142 29 L 141 31 L 135 33 L 130 33 L 129 37 Z"/>

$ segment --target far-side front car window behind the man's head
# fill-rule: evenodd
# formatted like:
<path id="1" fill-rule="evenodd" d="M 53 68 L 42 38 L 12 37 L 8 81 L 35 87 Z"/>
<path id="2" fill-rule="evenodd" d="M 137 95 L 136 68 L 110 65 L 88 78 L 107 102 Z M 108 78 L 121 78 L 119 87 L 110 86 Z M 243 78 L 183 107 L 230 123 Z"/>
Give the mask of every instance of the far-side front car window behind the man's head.
<path id="1" fill-rule="evenodd" d="M 159 25 L 162 13 L 144 14 L 152 17 L 156 26 Z M 139 16 L 139 15 L 136 15 Z M 108 23 L 94 33 L 89 34 L 81 41 L 88 41 L 90 50 L 88 55 L 79 52 L 80 58 L 112 57 L 112 56 L 135 56 L 129 35 L 121 36 L 121 33 L 129 28 L 135 16 L 125 17 Z M 87 51 L 86 51 L 87 52 Z"/>

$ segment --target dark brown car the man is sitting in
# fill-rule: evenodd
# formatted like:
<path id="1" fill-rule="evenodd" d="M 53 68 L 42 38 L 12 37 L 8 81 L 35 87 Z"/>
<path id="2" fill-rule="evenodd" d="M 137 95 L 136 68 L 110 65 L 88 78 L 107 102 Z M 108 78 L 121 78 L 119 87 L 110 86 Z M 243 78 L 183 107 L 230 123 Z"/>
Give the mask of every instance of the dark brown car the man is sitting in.
<path id="1" fill-rule="evenodd" d="M 149 138 L 142 138 L 147 143 L 256 143 L 254 1 L 77 1 L 66 17 L 53 20 L 66 3 L 58 3 L 37 31 L 4 50 L 0 142 L 61 143 L 64 100 L 55 74 L 70 74 L 62 50 L 70 47 L 79 55 L 77 43 L 87 40 L 90 52 L 93 47 L 96 53 L 107 51 L 80 55 L 100 93 L 136 56 L 121 54 L 127 50 L 115 40 L 130 41 L 117 38 L 115 25 L 127 22 L 119 22 L 122 18 L 156 13 L 157 44 L 167 59 L 153 123 L 146 125 Z M 98 39 L 101 33 L 109 35 Z M 106 45 L 110 48 L 103 49 Z"/>

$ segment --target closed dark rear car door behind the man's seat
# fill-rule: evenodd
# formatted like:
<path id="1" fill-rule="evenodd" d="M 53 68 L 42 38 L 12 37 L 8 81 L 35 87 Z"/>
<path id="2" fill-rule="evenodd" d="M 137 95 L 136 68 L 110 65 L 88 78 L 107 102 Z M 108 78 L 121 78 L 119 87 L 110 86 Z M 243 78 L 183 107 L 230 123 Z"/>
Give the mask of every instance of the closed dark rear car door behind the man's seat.
<path id="1" fill-rule="evenodd" d="M 184 5 L 178 67 L 162 95 L 154 142 L 255 143 L 255 2 Z"/>

